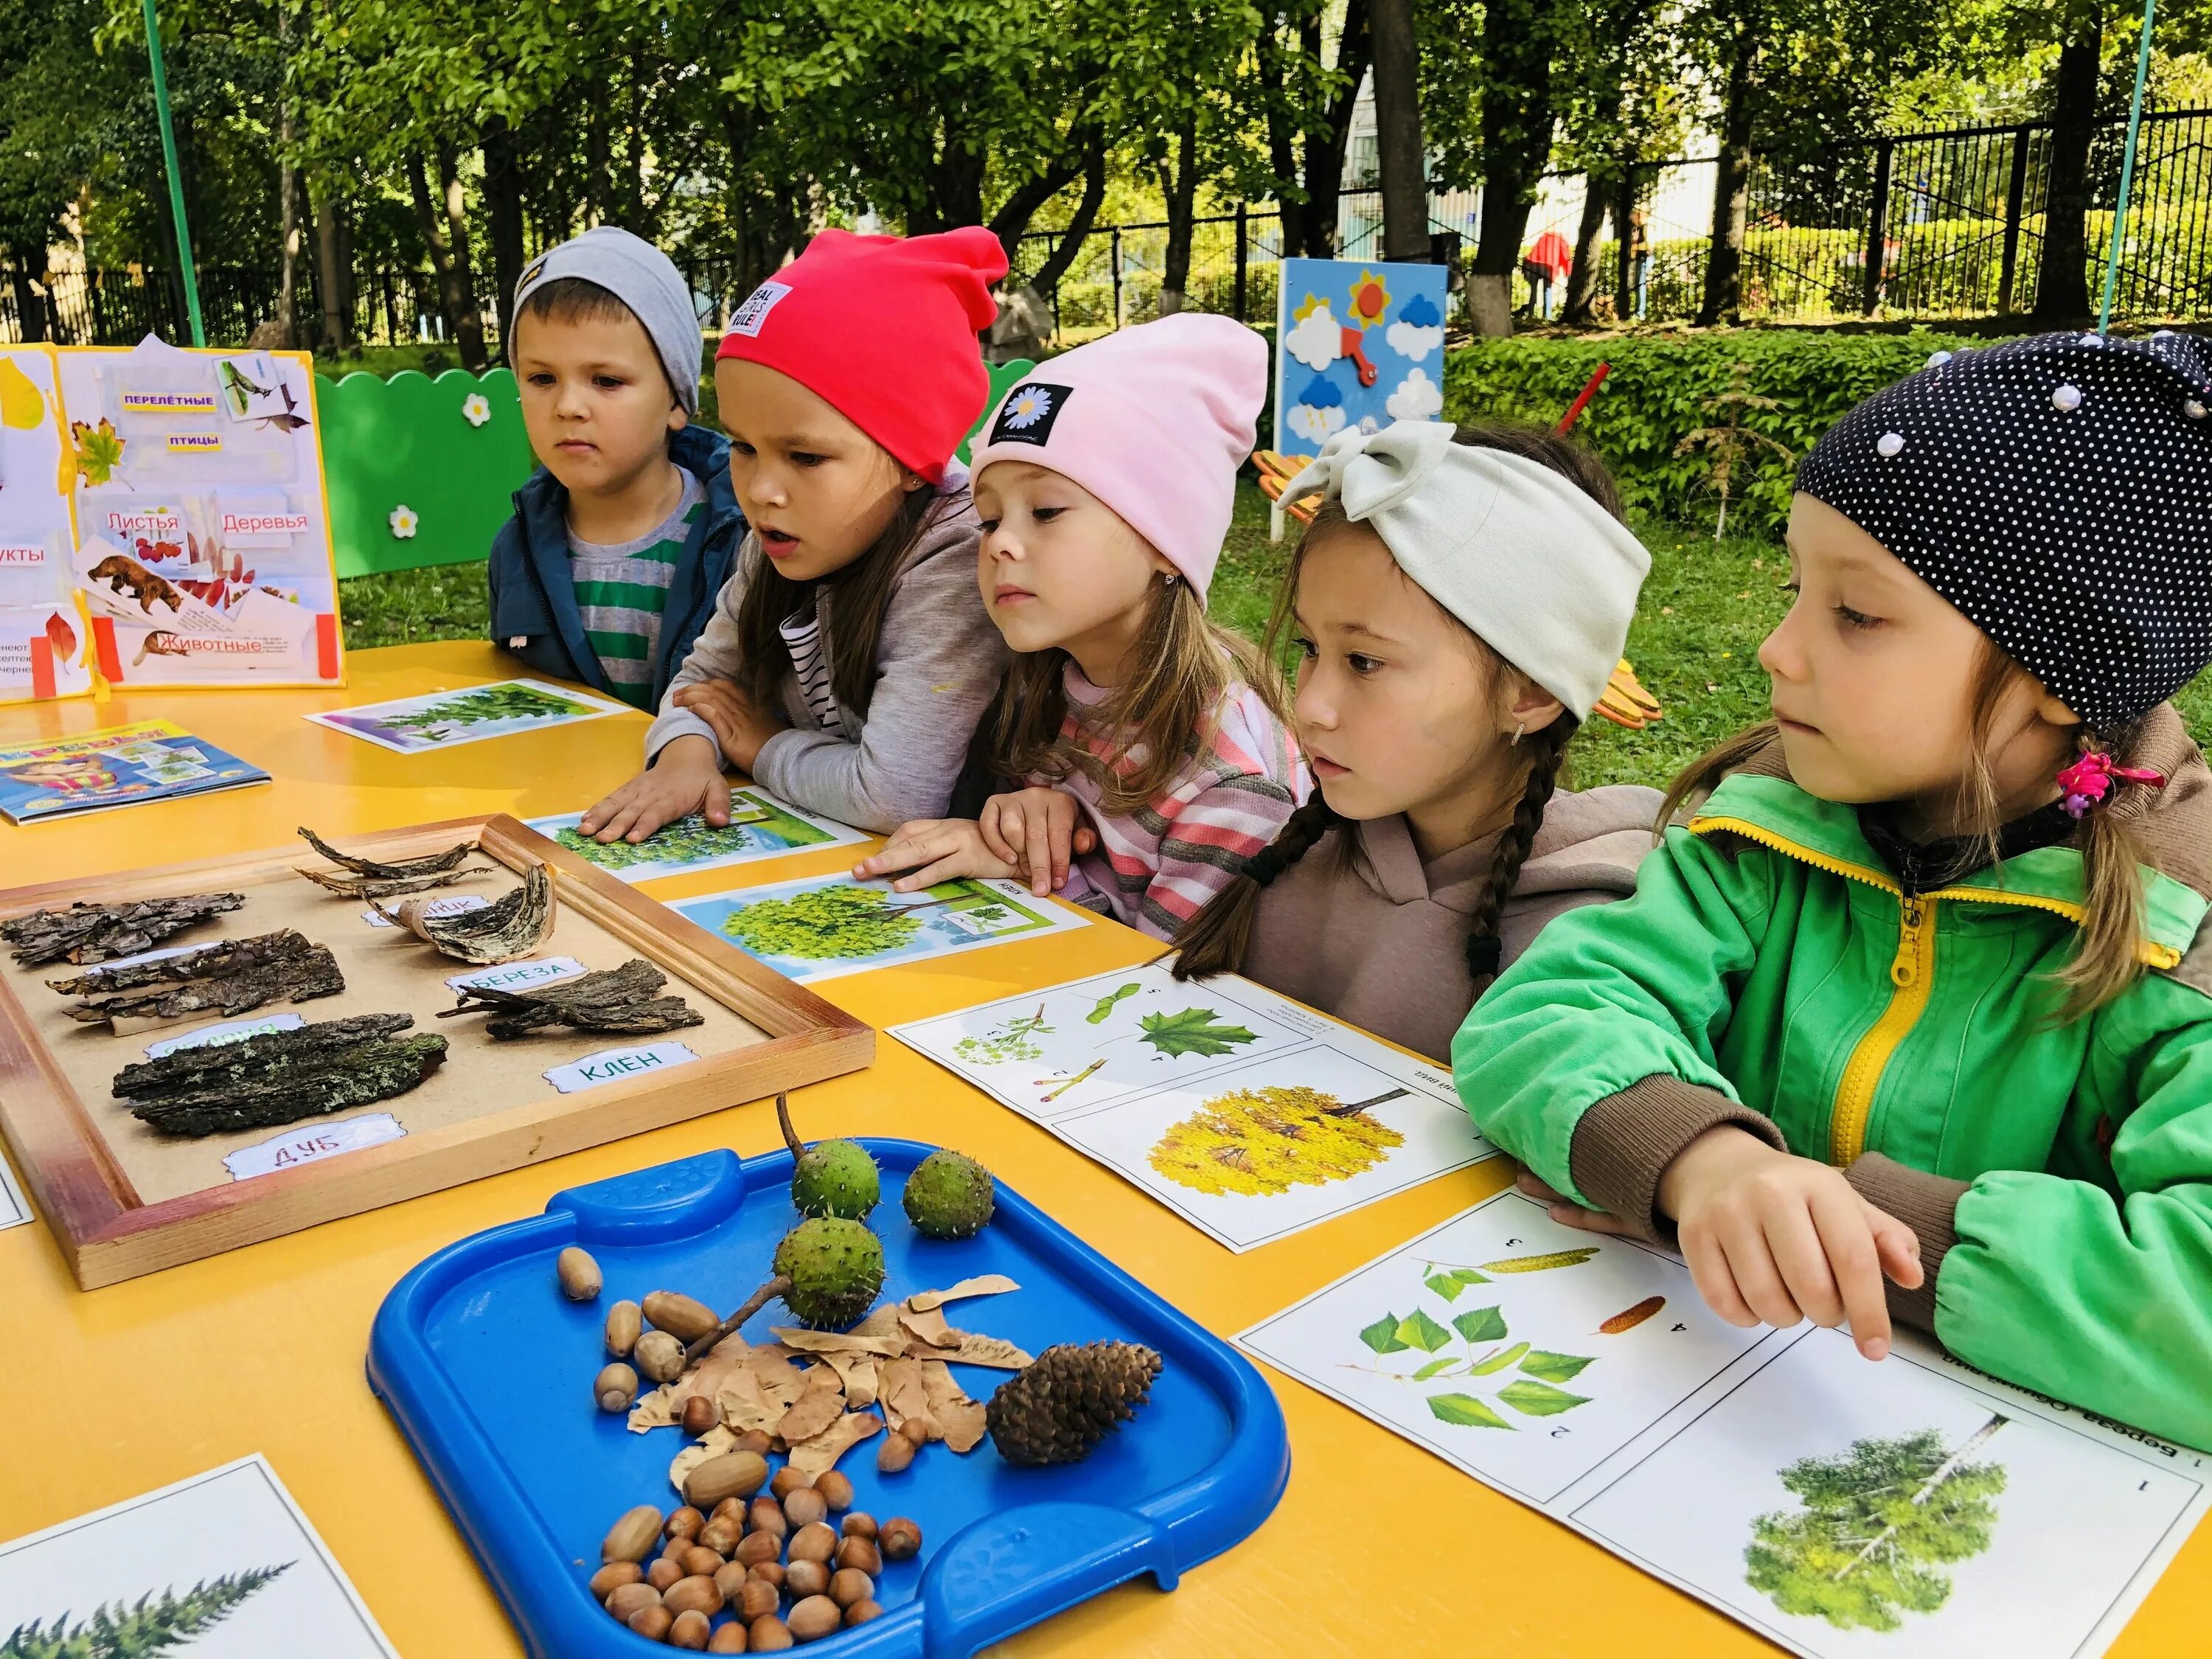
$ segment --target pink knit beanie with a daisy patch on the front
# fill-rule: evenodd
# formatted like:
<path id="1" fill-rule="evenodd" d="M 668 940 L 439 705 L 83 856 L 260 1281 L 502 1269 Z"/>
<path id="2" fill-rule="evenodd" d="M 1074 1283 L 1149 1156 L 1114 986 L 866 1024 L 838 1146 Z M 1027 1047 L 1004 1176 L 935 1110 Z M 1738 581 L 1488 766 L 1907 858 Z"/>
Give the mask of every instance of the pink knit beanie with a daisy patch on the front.
<path id="1" fill-rule="evenodd" d="M 1042 363 L 991 411 L 969 467 L 1026 460 L 1071 478 L 1206 597 L 1267 398 L 1267 343 L 1177 312 Z"/>

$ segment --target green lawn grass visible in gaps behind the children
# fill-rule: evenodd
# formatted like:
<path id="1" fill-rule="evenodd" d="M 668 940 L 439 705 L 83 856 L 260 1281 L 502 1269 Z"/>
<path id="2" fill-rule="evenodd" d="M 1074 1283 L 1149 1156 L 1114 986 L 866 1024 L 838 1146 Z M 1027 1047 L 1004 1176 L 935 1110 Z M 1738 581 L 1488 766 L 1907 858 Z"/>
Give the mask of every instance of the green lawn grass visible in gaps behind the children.
<path id="1" fill-rule="evenodd" d="M 1296 524 L 1292 524 L 1296 531 Z M 1641 732 L 1593 719 L 1571 750 L 1577 787 L 1650 783 L 1666 787 L 1688 761 L 1730 732 L 1767 714 L 1767 677 L 1759 641 L 1767 637 L 1790 595 L 1781 546 L 1679 524 L 1639 524 L 1652 551 L 1652 573 L 1628 630 L 1628 661 L 1637 679 L 1666 708 L 1666 719 Z M 1237 515 L 1214 571 L 1212 613 L 1230 628 L 1259 637 L 1274 606 L 1290 557 L 1290 538 L 1267 542 L 1267 498 L 1252 484 L 1237 487 Z M 484 566 L 445 564 L 396 575 L 361 575 L 338 584 L 345 644 L 420 644 L 427 639 L 482 639 L 489 626 Z M 2174 703 L 2199 743 L 2212 745 L 2212 670 L 2183 688 Z"/>

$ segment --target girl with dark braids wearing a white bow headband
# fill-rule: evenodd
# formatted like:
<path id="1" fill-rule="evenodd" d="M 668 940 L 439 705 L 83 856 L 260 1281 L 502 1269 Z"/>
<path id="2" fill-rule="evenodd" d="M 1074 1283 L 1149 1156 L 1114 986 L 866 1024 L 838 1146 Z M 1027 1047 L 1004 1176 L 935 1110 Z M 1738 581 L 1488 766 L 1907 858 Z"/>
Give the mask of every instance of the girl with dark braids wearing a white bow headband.
<path id="1" fill-rule="evenodd" d="M 1606 469 L 1542 429 L 1340 431 L 1303 495 L 1323 504 L 1270 657 L 1294 630 L 1318 787 L 1183 927 L 1175 971 L 1243 971 L 1447 1055 L 1500 967 L 1559 911 L 1632 891 L 1652 847 L 1657 790 L 1555 794 L 1650 555 Z"/>

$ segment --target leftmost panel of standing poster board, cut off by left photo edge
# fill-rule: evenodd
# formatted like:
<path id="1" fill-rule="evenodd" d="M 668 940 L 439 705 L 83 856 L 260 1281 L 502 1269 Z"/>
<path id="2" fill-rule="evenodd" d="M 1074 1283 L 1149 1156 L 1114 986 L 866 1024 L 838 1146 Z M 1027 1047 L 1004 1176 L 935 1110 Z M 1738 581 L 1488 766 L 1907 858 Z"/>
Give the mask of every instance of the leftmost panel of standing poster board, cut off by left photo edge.
<path id="1" fill-rule="evenodd" d="M 0 347 L 0 701 L 91 690 L 53 352 Z"/>

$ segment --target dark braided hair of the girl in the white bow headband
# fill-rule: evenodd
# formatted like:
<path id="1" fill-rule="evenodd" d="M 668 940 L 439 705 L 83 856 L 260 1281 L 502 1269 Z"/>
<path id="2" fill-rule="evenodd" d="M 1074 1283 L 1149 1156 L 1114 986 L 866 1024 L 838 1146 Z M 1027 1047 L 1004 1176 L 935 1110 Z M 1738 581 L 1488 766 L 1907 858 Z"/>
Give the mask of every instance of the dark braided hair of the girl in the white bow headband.
<path id="1" fill-rule="evenodd" d="M 1467 445 L 1469 449 L 1502 449 L 1511 456 L 1520 456 L 1522 460 L 1548 467 L 1604 507 L 1613 518 L 1621 518 L 1621 493 L 1613 482 L 1613 473 L 1606 471 L 1606 465 L 1588 449 L 1562 438 L 1548 427 L 1462 425 L 1451 434 L 1451 440 Z M 1283 580 L 1283 591 L 1276 595 L 1274 615 L 1267 619 L 1265 655 L 1272 661 L 1281 659 L 1279 644 L 1292 619 L 1292 604 L 1298 591 L 1298 566 L 1305 562 L 1305 555 L 1316 542 L 1349 522 L 1352 520 L 1345 518 L 1343 507 L 1334 500 L 1323 502 L 1314 513 L 1314 522 L 1298 540 L 1298 549 L 1292 553 L 1290 571 Z M 1506 664 L 1491 653 L 1482 639 L 1475 639 L 1475 644 L 1491 661 L 1493 675 L 1506 668 Z M 1504 956 L 1504 938 L 1500 933 L 1504 902 L 1511 898 L 1513 885 L 1520 880 L 1522 865 L 1528 863 L 1535 834 L 1544 825 L 1544 807 L 1551 803 L 1553 790 L 1559 785 L 1566 745 L 1579 728 L 1582 721 L 1575 714 L 1564 712 L 1551 726 L 1528 732 L 1526 739 L 1522 739 L 1522 752 L 1528 757 L 1528 772 L 1522 779 L 1522 794 L 1513 807 L 1513 821 L 1498 836 L 1498 852 L 1491 858 L 1482 894 L 1475 898 L 1475 909 L 1469 916 L 1467 973 L 1475 982 L 1475 995 L 1482 995 L 1489 982 L 1498 978 Z M 1329 807 L 1321 787 L 1316 787 L 1307 803 L 1290 814 L 1290 821 L 1276 838 L 1252 854 L 1243 874 L 1234 876 L 1228 887 L 1214 894 L 1206 909 L 1183 922 L 1177 931 L 1175 978 L 1206 978 L 1241 969 L 1245 949 L 1252 942 L 1252 925 L 1259 918 L 1261 889 L 1298 863 L 1329 830 L 1345 825 L 1349 825 L 1349 821 Z M 1349 858 L 1349 834 L 1338 838 L 1338 852 Z"/>

